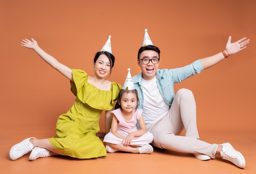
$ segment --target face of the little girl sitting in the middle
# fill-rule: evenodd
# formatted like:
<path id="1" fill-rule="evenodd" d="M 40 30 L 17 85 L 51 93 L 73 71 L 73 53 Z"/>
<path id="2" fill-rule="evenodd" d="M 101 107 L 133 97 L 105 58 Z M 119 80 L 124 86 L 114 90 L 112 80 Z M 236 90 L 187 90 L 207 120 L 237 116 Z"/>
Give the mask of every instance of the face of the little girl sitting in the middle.
<path id="1" fill-rule="evenodd" d="M 124 93 L 120 105 L 125 112 L 132 112 L 137 106 L 137 97 L 135 93 Z"/>

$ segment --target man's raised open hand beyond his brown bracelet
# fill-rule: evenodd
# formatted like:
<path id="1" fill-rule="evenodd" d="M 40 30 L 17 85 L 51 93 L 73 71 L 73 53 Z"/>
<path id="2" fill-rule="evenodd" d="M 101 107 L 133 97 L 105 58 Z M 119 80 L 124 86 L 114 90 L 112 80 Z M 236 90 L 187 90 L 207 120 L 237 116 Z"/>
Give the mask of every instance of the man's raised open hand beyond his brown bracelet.
<path id="1" fill-rule="evenodd" d="M 226 51 L 228 55 L 236 54 L 239 51 L 242 51 L 243 49 L 246 48 L 246 45 L 249 44 L 249 39 L 246 40 L 246 37 L 231 43 L 231 36 L 229 36 L 229 39 L 226 44 Z"/>

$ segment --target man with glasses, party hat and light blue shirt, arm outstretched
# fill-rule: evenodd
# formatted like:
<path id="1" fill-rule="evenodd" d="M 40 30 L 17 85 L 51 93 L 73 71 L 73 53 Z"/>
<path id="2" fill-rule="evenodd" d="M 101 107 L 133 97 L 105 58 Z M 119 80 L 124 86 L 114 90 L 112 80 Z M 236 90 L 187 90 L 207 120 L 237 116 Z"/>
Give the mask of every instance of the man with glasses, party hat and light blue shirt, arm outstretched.
<path id="1" fill-rule="evenodd" d="M 240 168 L 245 167 L 245 158 L 230 143 L 209 144 L 199 140 L 196 125 L 196 106 L 193 93 L 180 89 L 176 95 L 173 84 L 200 73 L 229 55 L 246 48 L 246 37 L 231 43 L 229 36 L 224 51 L 199 59 L 190 65 L 174 69 L 158 69 L 160 50 L 145 30 L 143 46 L 139 49 L 137 63 L 141 73 L 132 77 L 139 94 L 139 109 L 143 109 L 144 121 L 149 132 L 153 133 L 153 145 L 157 148 L 191 153 L 197 159 L 215 159 L 216 154 L 231 161 Z M 185 136 L 179 136 L 182 130 Z"/>

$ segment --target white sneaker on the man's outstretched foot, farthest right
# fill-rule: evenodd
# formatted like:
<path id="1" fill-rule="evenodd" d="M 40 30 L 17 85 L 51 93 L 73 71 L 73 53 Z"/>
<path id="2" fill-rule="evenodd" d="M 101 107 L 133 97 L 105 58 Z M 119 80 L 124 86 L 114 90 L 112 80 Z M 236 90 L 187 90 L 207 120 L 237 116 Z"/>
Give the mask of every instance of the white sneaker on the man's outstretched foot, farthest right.
<path id="1" fill-rule="evenodd" d="M 220 152 L 222 159 L 226 159 L 242 169 L 245 168 L 245 158 L 240 152 L 236 151 L 230 143 L 223 143 L 220 145 L 223 147 Z"/>

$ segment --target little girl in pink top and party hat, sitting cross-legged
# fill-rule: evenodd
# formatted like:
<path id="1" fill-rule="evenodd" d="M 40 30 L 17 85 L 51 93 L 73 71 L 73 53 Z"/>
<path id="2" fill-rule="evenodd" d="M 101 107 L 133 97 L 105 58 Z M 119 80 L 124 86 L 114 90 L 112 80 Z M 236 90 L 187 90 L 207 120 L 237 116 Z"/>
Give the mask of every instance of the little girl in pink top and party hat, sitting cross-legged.
<path id="1" fill-rule="evenodd" d="M 119 108 L 110 112 L 111 129 L 103 141 L 107 144 L 107 152 L 110 153 L 123 151 L 150 154 L 153 152 L 153 147 L 149 144 L 153 141 L 153 134 L 147 132 L 142 110 L 137 109 L 138 93 L 129 77 L 130 69 L 128 71 L 126 82 L 118 96 Z M 137 121 L 140 129 L 137 129 Z"/>

